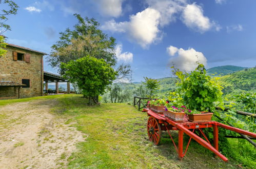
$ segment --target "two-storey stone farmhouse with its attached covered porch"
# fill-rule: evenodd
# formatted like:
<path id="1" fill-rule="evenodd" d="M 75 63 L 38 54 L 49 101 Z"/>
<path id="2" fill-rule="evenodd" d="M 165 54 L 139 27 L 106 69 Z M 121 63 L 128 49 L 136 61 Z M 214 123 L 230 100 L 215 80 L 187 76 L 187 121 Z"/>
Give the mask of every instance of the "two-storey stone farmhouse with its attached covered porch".
<path id="1" fill-rule="evenodd" d="M 44 95 L 49 82 L 66 81 L 61 76 L 44 72 L 44 52 L 8 44 L 7 54 L 0 57 L 0 99 L 25 98 Z M 68 87 L 70 84 L 68 82 Z M 68 89 L 70 93 L 70 89 Z"/>

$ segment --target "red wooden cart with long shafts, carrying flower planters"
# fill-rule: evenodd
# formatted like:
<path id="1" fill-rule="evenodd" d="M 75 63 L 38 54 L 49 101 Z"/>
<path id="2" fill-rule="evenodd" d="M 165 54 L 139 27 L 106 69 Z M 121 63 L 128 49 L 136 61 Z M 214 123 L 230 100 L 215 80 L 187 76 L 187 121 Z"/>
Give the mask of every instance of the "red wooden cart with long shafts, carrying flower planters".
<path id="1" fill-rule="evenodd" d="M 216 121 L 176 122 L 169 118 L 166 118 L 162 114 L 155 113 L 149 109 L 143 109 L 143 112 L 147 112 L 147 114 L 149 116 L 148 122 L 147 122 L 147 130 L 148 130 L 149 140 L 152 141 L 155 145 L 158 145 L 161 140 L 162 131 L 167 131 L 180 159 L 182 159 L 185 156 L 185 154 L 188 150 L 189 143 L 190 143 L 191 139 L 193 138 L 196 142 L 198 142 L 202 146 L 206 147 L 206 149 L 209 149 L 210 151 L 212 151 L 215 155 L 219 156 L 224 161 L 228 161 L 228 159 L 218 151 L 218 140 L 219 140 L 218 128 L 219 127 L 256 138 L 255 133 L 244 131 L 244 130 L 241 130 L 238 128 L 233 128 L 229 125 L 225 125 L 225 124 L 222 124 L 222 123 L 216 122 Z M 213 128 L 213 146 L 211 145 L 210 141 L 204 134 L 204 132 L 202 130 L 203 128 Z M 169 132 L 169 130 L 178 130 L 179 131 L 178 147 L 176 146 L 174 140 L 172 139 L 172 136 L 171 136 L 171 133 Z M 196 135 L 194 133 L 195 130 L 199 130 L 206 141 L 204 139 L 202 139 L 200 136 Z M 188 136 L 190 136 L 190 139 L 188 141 L 185 151 L 183 151 L 183 134 L 184 133 L 187 134 Z"/>

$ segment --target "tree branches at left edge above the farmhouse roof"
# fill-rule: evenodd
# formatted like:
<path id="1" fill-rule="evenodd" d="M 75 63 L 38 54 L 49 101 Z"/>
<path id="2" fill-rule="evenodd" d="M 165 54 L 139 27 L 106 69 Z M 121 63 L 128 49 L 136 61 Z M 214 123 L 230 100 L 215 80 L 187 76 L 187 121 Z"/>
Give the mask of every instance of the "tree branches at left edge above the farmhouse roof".
<path id="1" fill-rule="evenodd" d="M 10 25 L 6 24 L 6 21 L 8 20 L 7 16 L 8 15 L 15 15 L 18 10 L 18 6 L 13 2 L 9 0 L 5 0 L 2 2 L 0 0 L 0 4 L 7 4 L 9 6 L 9 10 L 3 9 L 0 13 L 0 57 L 4 56 L 7 52 L 7 50 L 4 50 L 3 48 L 6 48 L 6 43 L 5 43 L 5 37 L 1 36 L 4 32 L 7 30 L 11 30 Z"/>

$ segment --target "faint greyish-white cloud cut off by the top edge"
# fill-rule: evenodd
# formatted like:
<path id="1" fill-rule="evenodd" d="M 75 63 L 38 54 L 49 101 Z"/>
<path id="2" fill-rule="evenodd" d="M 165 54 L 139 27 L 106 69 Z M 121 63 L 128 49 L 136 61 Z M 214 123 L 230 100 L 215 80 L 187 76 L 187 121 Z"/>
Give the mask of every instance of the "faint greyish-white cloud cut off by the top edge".
<path id="1" fill-rule="evenodd" d="M 94 0 L 100 7 L 100 12 L 104 16 L 118 17 L 122 14 L 123 0 Z"/>

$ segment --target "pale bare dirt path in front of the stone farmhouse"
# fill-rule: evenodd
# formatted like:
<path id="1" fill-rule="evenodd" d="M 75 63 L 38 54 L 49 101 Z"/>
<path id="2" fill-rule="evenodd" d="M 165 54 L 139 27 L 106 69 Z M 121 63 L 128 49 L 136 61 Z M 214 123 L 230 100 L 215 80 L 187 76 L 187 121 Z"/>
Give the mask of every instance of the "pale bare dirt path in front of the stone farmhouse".
<path id="1" fill-rule="evenodd" d="M 57 100 L 33 100 L 0 107 L 0 168 L 65 167 L 84 141 L 81 132 L 50 113 Z"/>

